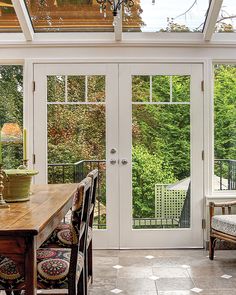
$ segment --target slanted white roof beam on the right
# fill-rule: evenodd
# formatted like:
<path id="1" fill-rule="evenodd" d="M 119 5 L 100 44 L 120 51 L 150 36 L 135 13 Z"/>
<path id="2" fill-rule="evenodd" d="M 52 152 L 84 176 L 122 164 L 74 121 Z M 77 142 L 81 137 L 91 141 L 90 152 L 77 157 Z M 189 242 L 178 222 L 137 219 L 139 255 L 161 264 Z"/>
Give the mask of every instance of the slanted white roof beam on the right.
<path id="1" fill-rule="evenodd" d="M 211 41 L 212 35 L 215 32 L 215 25 L 222 3 L 223 0 L 211 0 L 206 23 L 203 30 L 203 36 L 205 41 Z"/>

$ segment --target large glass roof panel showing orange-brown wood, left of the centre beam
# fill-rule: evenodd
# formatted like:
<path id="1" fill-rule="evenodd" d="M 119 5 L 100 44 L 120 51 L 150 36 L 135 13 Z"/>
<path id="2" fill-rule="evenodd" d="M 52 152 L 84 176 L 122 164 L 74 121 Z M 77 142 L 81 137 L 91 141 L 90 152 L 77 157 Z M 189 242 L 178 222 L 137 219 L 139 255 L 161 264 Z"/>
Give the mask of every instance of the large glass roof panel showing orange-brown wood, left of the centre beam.
<path id="1" fill-rule="evenodd" d="M 35 32 L 113 32 L 96 0 L 25 0 Z"/>

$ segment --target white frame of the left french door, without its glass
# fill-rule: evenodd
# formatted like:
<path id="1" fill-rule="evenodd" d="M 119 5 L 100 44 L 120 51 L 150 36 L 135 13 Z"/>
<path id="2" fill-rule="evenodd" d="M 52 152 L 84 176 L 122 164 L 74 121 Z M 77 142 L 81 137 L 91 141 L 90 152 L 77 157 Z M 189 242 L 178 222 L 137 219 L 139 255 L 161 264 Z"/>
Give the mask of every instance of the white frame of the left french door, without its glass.
<path id="1" fill-rule="evenodd" d="M 107 229 L 94 230 L 95 248 L 119 247 L 118 165 L 118 65 L 115 64 L 34 64 L 34 168 L 39 171 L 35 183 L 47 183 L 47 76 L 105 75 L 106 76 L 106 213 Z M 92 134 L 91 134 L 92 136 Z"/>

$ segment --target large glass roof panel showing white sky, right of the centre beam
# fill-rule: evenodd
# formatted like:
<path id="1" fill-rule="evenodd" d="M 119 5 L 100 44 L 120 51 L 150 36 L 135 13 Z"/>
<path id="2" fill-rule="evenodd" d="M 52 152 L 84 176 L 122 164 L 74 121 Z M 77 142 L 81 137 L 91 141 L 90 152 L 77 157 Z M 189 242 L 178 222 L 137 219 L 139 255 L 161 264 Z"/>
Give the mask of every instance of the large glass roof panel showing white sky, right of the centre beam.
<path id="1" fill-rule="evenodd" d="M 234 0 L 235 1 L 235 0 Z M 202 32 L 210 0 L 134 0 L 125 32 Z"/>

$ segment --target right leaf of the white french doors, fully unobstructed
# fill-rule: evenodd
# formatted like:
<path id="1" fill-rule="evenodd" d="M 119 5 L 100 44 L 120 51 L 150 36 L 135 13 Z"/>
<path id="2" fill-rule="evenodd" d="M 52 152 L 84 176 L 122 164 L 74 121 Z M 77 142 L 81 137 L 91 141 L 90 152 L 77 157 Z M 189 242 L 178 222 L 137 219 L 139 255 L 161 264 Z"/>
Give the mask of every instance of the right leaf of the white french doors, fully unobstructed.
<path id="1" fill-rule="evenodd" d="M 200 64 L 119 67 L 120 247 L 203 247 Z"/>

